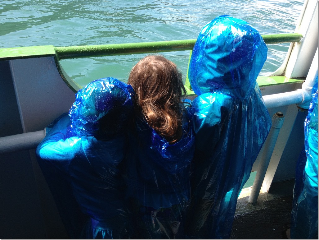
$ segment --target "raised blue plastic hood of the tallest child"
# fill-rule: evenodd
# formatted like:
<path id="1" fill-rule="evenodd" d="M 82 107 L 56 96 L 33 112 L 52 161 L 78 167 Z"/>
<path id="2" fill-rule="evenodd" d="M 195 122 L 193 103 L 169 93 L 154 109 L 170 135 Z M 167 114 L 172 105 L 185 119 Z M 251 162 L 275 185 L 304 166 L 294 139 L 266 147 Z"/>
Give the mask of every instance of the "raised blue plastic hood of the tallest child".
<path id="1" fill-rule="evenodd" d="M 267 47 L 247 22 L 223 15 L 200 32 L 189 66 L 189 80 L 197 95 L 215 90 L 245 98 L 267 58 Z"/>

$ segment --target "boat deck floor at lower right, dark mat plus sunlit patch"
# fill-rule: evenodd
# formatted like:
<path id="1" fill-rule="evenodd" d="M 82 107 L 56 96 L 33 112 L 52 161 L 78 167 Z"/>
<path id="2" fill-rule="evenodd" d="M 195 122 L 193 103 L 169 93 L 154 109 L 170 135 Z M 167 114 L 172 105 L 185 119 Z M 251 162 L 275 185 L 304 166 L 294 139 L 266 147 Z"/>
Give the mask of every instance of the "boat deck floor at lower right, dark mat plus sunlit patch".
<path id="1" fill-rule="evenodd" d="M 230 238 L 280 239 L 282 228 L 290 222 L 294 180 L 275 183 L 269 193 L 261 193 L 257 204 L 248 203 L 250 188 L 238 199 Z"/>

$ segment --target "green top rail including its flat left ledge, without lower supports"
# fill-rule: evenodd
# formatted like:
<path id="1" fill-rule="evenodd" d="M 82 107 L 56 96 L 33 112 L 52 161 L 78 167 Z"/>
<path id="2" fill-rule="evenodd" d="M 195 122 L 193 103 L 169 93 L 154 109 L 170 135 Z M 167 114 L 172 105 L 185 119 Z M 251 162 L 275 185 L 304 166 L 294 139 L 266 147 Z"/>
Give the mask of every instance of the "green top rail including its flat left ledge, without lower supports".
<path id="1" fill-rule="evenodd" d="M 266 44 L 300 42 L 298 33 L 262 35 Z M 169 51 L 192 50 L 196 39 L 161 41 L 149 43 L 120 43 L 106 45 L 86 45 L 70 47 L 33 46 L 0 48 L 0 60 L 19 58 L 39 58 L 56 56 L 58 60 L 68 58 L 102 57 L 138 53 L 156 53 Z"/>

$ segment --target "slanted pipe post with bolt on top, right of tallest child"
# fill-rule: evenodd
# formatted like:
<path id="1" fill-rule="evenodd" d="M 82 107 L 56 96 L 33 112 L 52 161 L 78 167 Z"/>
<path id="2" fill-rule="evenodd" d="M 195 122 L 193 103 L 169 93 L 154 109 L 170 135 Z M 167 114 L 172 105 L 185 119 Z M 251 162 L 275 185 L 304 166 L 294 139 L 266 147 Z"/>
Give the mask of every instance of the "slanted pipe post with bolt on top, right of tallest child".
<path id="1" fill-rule="evenodd" d="M 250 203 L 257 203 L 257 198 L 259 196 L 260 189 L 263 184 L 263 179 L 265 178 L 265 174 L 271 159 L 272 152 L 274 151 L 278 134 L 280 128 L 284 123 L 284 114 L 282 112 L 276 112 L 271 119 L 272 126 L 269 132 L 269 135 L 263 144 L 263 152 L 261 155 L 260 163 L 257 166 L 257 173 L 253 183 L 253 187 L 250 192 L 250 196 L 248 202 Z"/>

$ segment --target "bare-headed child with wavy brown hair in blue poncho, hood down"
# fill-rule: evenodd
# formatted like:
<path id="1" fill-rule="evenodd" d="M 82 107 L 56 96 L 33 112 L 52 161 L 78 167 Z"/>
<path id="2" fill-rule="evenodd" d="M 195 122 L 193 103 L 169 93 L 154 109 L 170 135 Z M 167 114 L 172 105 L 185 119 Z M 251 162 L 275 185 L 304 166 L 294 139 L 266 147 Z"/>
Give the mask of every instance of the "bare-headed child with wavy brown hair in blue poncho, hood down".
<path id="1" fill-rule="evenodd" d="M 194 135 L 176 65 L 147 56 L 132 69 L 135 128 L 130 131 L 126 202 L 132 238 L 183 238 Z"/>

